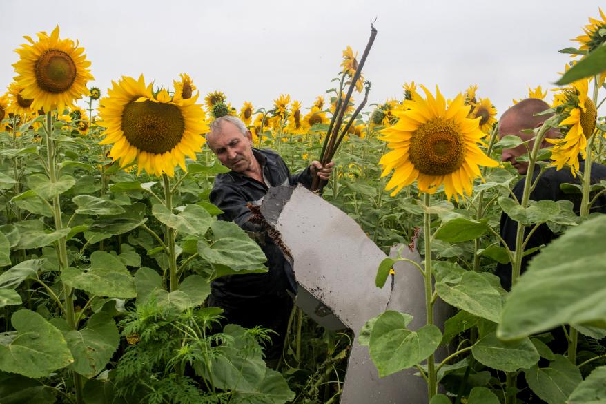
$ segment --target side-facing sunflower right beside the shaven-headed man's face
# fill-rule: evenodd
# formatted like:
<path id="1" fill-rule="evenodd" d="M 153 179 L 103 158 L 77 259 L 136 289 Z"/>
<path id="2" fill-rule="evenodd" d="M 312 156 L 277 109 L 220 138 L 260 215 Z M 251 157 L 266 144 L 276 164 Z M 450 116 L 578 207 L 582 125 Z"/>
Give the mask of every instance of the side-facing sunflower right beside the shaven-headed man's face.
<path id="1" fill-rule="evenodd" d="M 559 99 L 567 117 L 560 122 L 560 127 L 567 129 L 567 133 L 562 139 L 547 139 L 547 142 L 554 144 L 551 149 L 553 165 L 560 170 L 565 164 L 569 164 L 574 176 L 579 166 L 578 153 L 583 158 L 587 157 L 587 137 L 591 136 L 596 128 L 598 111 L 592 99 L 587 97 L 588 88 L 589 80 L 582 79 L 561 90 Z"/>

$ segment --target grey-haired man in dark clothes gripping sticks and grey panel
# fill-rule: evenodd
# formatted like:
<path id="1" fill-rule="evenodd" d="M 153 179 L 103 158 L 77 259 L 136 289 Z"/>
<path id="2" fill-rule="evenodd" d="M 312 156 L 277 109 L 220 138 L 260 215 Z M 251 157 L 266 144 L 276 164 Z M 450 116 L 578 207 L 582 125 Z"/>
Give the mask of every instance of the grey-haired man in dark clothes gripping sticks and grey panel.
<path id="1" fill-rule="evenodd" d="M 294 291 L 295 282 L 282 251 L 260 224 L 248 221 L 251 211 L 246 204 L 260 202 L 270 186 L 302 184 L 309 189 L 315 175 L 322 180 L 330 178 L 333 163 L 322 167 L 320 162 L 312 162 L 301 173 L 291 175 L 280 155 L 253 148 L 251 131 L 232 116 L 216 119 L 206 140 L 219 161 L 231 169 L 217 175 L 210 195 L 211 202 L 224 212 L 219 219 L 233 221 L 251 235 L 265 253 L 269 269 L 267 273 L 217 278 L 211 285 L 208 304 L 224 310 L 226 323 L 246 328 L 258 325 L 275 331 L 266 359 L 276 360 L 282 352 L 293 308 L 286 291 Z"/>

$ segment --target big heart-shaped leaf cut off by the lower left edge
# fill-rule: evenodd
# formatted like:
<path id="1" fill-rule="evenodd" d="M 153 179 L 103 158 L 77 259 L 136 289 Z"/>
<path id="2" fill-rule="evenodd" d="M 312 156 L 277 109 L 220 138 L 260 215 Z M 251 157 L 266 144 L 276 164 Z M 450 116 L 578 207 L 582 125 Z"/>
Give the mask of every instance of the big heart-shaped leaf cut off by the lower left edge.
<path id="1" fill-rule="evenodd" d="M 14 339 L 0 340 L 0 370 L 43 377 L 74 361 L 61 331 L 30 310 L 12 314 Z"/>

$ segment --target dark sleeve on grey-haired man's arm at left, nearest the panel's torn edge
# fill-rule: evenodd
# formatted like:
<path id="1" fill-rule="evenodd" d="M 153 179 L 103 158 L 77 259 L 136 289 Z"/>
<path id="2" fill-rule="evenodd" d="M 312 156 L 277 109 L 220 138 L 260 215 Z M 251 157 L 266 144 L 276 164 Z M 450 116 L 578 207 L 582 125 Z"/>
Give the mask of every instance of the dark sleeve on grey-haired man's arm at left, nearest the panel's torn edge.
<path id="1" fill-rule="evenodd" d="M 212 204 L 223 211 L 223 213 L 219 215 L 220 220 L 235 222 L 235 224 L 245 231 L 252 231 L 255 233 L 263 231 L 260 224 L 254 224 L 248 221 L 251 217 L 251 211 L 246 207 L 246 204 L 250 201 L 246 200 L 244 195 L 235 188 L 225 185 L 219 186 L 211 191 L 209 199 Z"/>

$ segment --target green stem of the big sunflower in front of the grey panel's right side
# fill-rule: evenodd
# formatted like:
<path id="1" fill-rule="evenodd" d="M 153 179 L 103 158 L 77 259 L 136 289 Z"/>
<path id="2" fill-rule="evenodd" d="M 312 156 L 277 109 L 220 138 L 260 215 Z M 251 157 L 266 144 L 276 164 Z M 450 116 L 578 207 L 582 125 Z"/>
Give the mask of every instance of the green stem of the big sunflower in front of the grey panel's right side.
<path id="1" fill-rule="evenodd" d="M 429 193 L 424 194 L 425 211 L 423 213 L 423 232 L 425 239 L 425 318 L 426 323 L 433 324 L 433 285 L 431 273 L 431 213 L 429 206 L 431 199 Z M 434 363 L 433 354 L 427 358 L 427 394 L 429 400 L 438 392 L 438 383 L 436 380 L 436 364 Z"/>

